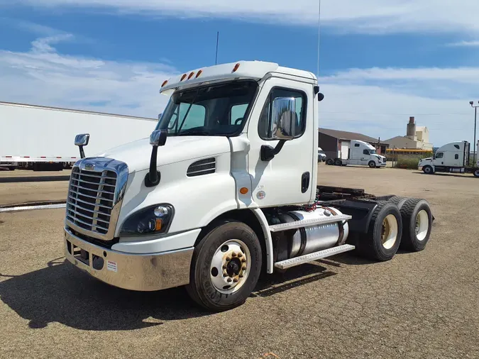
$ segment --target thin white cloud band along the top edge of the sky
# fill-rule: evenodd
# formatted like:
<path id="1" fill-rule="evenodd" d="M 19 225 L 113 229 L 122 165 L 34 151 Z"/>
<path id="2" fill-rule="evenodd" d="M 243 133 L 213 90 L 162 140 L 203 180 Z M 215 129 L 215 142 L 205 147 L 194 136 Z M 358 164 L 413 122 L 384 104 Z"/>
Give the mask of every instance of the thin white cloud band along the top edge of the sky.
<path id="1" fill-rule="evenodd" d="M 317 24 L 319 0 L 0 0 L 0 5 L 106 9 L 146 16 L 242 18 L 270 23 Z M 478 33 L 476 0 L 323 0 L 324 24 L 364 33 Z"/>

